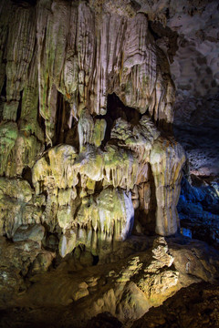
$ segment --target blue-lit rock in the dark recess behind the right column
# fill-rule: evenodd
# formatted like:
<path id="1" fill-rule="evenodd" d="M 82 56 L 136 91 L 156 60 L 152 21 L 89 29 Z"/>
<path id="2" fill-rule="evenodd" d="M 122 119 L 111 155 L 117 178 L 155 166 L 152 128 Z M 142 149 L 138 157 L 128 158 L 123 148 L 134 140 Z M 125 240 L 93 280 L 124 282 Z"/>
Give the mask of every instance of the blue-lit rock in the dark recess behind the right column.
<path id="1" fill-rule="evenodd" d="M 219 205 L 218 183 L 211 179 L 191 175 L 190 182 L 183 178 L 182 191 L 177 206 L 181 226 L 191 237 L 218 247 Z"/>

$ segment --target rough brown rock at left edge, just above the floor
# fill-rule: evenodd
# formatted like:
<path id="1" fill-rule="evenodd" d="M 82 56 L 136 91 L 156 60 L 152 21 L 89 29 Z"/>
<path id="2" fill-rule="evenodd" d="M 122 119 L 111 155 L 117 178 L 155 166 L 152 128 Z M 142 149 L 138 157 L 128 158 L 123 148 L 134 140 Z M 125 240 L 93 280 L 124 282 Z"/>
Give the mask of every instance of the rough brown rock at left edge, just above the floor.
<path id="1" fill-rule="evenodd" d="M 0 307 L 3 308 L 5 303 L 13 303 L 18 295 L 26 292 L 29 287 L 26 277 L 33 270 L 35 273 L 46 272 L 56 255 L 42 251 L 41 245 L 34 240 L 12 242 L 1 237 L 0 245 Z"/>

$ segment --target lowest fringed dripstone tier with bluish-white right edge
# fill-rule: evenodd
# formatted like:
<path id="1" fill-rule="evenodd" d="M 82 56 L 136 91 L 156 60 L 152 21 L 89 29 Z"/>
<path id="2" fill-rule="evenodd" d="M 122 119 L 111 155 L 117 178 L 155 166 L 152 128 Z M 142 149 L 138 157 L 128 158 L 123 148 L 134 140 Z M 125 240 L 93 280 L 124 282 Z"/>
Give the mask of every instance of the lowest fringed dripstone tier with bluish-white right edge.
<path id="1" fill-rule="evenodd" d="M 130 192 L 104 189 L 98 195 L 83 198 L 74 219 L 69 206 L 59 207 L 57 221 L 63 229 L 59 242 L 61 256 L 80 243 L 98 254 L 103 244 L 113 247 L 114 242 L 124 241 L 130 235 L 134 223 Z"/>

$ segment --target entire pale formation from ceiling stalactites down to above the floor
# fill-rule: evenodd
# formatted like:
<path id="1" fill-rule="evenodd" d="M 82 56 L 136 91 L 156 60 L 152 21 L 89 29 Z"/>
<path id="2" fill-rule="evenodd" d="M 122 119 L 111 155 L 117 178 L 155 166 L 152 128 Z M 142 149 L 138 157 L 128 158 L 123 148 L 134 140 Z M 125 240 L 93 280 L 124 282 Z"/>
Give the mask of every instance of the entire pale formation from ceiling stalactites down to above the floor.
<path id="1" fill-rule="evenodd" d="M 145 14 L 97 4 L 0 6 L 0 232 L 62 257 L 179 229 L 167 59 Z"/>

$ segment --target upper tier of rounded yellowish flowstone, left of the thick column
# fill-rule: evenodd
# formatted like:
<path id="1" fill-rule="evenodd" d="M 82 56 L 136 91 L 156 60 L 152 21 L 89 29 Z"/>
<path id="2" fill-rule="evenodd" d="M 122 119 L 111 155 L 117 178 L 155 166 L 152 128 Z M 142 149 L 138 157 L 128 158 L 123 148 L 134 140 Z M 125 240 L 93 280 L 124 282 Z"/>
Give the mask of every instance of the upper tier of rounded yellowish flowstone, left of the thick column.
<path id="1" fill-rule="evenodd" d="M 99 146 L 105 137 L 105 130 L 104 119 L 94 123 L 89 114 L 80 118 L 79 152 L 69 145 L 48 149 L 33 168 L 36 193 L 44 189 L 75 189 L 78 179 L 82 190 L 94 191 L 98 181 L 102 181 L 103 187 L 132 190 L 139 179 L 142 164 L 149 161 L 153 142 L 159 138 L 160 132 L 146 115 L 134 128 L 119 118 L 111 130 L 111 138 L 116 139 L 118 145 L 107 143 L 101 149 Z"/>

